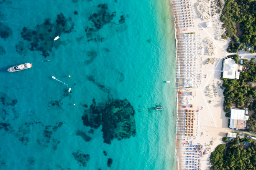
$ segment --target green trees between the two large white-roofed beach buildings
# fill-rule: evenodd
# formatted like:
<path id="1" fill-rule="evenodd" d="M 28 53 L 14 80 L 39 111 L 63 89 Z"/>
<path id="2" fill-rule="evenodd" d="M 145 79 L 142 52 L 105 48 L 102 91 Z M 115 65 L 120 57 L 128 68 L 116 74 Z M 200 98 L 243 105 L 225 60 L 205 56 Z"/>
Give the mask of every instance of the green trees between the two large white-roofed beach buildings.
<path id="1" fill-rule="evenodd" d="M 249 62 L 244 62 L 243 65 L 248 65 L 249 69 L 240 72 L 239 80 L 223 79 L 224 111 L 228 112 L 234 104 L 237 108 L 255 109 L 256 102 L 256 87 L 252 87 L 249 83 L 256 82 L 256 62 L 252 58 Z"/>

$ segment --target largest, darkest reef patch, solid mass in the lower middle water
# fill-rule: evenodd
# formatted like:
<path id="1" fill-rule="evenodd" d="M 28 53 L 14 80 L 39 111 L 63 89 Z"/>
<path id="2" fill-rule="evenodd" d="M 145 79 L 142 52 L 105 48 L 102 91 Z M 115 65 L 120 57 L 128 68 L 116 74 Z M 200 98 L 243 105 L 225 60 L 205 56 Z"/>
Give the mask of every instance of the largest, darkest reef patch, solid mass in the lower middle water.
<path id="1" fill-rule="evenodd" d="M 93 99 L 82 120 L 85 126 L 91 128 L 96 129 L 102 125 L 104 143 L 111 144 L 114 138 L 121 140 L 135 136 L 134 114 L 133 106 L 127 99 L 110 99 L 98 105 Z"/>

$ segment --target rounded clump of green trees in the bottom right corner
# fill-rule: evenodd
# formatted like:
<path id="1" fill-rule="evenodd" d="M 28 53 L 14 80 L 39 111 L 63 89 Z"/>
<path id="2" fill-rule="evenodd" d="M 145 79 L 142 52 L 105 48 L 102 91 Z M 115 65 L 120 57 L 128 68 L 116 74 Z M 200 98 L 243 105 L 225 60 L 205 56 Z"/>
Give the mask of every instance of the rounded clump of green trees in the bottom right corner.
<path id="1" fill-rule="evenodd" d="M 220 144 L 211 153 L 210 163 L 211 170 L 256 170 L 256 144 L 250 138 Z"/>

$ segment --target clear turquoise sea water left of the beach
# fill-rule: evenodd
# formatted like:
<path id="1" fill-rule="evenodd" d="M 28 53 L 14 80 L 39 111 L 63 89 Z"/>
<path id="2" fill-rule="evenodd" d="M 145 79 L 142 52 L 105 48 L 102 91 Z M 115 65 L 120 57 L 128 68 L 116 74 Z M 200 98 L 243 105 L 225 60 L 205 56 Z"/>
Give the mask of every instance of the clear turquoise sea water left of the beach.
<path id="1" fill-rule="evenodd" d="M 168 0 L 0 2 L 0 169 L 175 169 L 175 41 Z M 26 62 L 33 67 L 6 71 Z M 126 137 L 104 142 L 103 124 L 91 128 L 81 118 L 93 99 L 102 108 L 127 99 L 136 133 L 116 128 Z M 152 109 L 160 105 L 163 110 Z M 80 153 L 90 158 L 76 159 Z"/>

